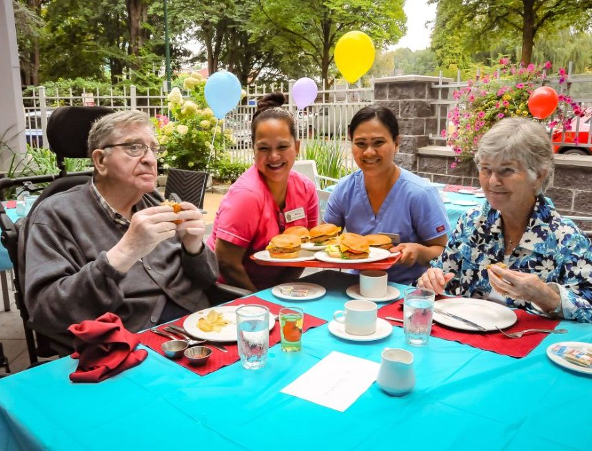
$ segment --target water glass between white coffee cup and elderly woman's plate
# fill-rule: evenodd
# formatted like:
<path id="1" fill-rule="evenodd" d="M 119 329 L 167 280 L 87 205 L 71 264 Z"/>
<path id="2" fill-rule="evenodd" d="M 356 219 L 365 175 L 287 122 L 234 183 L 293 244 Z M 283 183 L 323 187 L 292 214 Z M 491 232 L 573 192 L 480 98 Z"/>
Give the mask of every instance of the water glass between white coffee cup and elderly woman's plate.
<path id="1" fill-rule="evenodd" d="M 425 288 L 405 290 L 403 301 L 403 330 L 405 341 L 411 346 L 424 346 L 429 342 L 433 314 L 433 291 Z"/>

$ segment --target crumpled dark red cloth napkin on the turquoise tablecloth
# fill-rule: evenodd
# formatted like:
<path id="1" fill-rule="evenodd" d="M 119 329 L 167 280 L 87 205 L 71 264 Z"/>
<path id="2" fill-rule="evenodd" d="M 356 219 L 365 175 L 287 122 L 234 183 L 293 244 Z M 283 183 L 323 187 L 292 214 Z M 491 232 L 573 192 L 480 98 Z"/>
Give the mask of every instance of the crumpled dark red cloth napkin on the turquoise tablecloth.
<path id="1" fill-rule="evenodd" d="M 140 340 L 114 313 L 72 324 L 68 331 L 76 337 L 72 359 L 79 359 L 70 375 L 72 382 L 104 381 L 140 364 L 148 355 L 145 349 L 134 350 Z"/>

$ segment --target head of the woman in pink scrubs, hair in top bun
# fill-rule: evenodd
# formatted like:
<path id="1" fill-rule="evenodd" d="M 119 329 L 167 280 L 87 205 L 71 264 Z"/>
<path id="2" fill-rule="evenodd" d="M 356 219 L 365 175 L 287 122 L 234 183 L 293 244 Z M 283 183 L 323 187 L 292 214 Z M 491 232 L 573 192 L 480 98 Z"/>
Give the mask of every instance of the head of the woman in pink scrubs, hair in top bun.
<path id="1" fill-rule="evenodd" d="M 251 133 L 255 166 L 267 183 L 287 183 L 300 150 L 294 117 L 281 106 L 285 96 L 274 92 L 257 102 Z"/>

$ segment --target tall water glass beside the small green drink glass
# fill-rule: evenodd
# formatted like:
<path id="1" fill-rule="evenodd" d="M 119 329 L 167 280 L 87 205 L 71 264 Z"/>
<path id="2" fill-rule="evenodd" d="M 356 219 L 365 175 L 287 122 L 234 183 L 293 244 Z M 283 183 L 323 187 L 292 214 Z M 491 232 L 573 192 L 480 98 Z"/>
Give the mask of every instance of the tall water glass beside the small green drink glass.
<path id="1" fill-rule="evenodd" d="M 236 309 L 238 355 L 247 370 L 265 366 L 269 348 L 269 308 L 245 305 Z"/>

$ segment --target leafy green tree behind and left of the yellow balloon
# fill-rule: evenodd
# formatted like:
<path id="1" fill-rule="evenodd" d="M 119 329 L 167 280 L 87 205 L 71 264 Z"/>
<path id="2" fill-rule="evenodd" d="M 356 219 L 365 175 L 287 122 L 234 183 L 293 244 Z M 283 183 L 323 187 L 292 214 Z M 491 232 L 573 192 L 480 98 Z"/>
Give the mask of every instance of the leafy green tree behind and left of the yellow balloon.
<path id="1" fill-rule="evenodd" d="M 263 39 L 268 50 L 283 55 L 288 76 L 303 61 L 316 67 L 317 76 L 327 86 L 334 48 L 348 31 L 367 33 L 377 49 L 396 43 L 405 32 L 402 0 L 256 0 L 249 31 Z M 294 71 L 295 72 L 295 71 Z"/>

